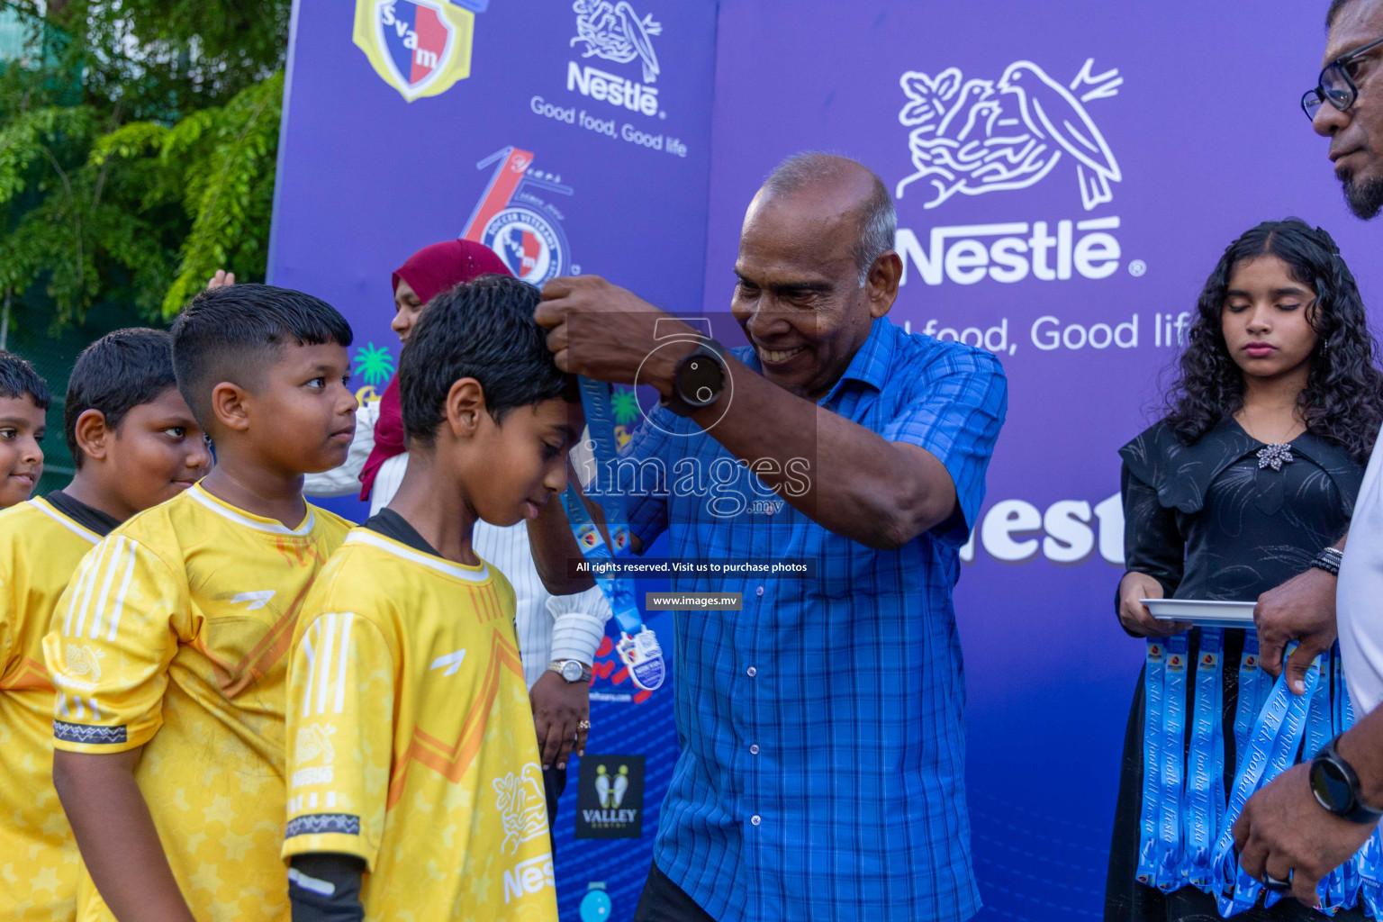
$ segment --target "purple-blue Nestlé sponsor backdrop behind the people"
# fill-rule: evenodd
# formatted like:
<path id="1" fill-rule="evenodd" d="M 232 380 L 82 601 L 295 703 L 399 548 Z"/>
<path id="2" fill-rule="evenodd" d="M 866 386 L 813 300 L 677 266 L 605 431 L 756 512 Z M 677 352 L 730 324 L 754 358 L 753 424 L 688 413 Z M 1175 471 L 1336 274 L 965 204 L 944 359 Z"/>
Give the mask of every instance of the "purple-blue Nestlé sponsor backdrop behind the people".
<path id="1" fill-rule="evenodd" d="M 1325 227 L 1379 290 L 1377 231 L 1297 106 L 1325 6 L 299 0 L 271 276 L 349 317 L 368 398 L 398 354 L 390 271 L 426 243 L 723 311 L 777 160 L 874 169 L 906 265 L 893 322 L 989 348 L 1010 379 L 957 590 L 983 912 L 1097 916 L 1141 658 L 1112 611 L 1115 452 L 1250 225 Z M 556 867 L 582 922 L 632 914 L 676 751 L 671 683 L 636 702 L 604 664 L 588 762 L 606 771 L 586 778 L 642 756 L 646 816 L 639 838 L 577 842 L 597 792 L 573 771 Z"/>

